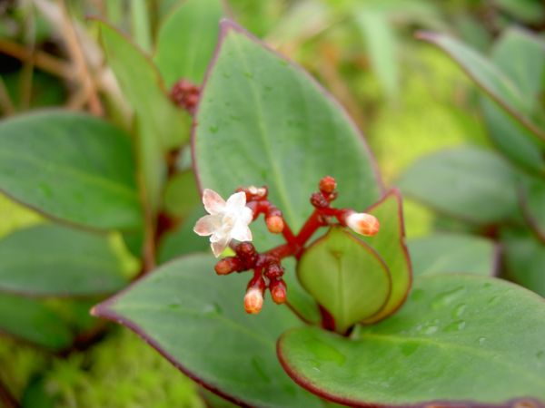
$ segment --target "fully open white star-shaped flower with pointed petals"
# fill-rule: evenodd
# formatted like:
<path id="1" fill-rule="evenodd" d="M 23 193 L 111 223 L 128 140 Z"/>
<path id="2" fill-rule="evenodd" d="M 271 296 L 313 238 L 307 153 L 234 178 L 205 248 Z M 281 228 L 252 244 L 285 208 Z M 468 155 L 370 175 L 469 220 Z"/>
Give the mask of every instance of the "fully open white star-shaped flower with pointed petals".
<path id="1" fill-rule="evenodd" d="M 251 241 L 252 209 L 246 207 L 246 194 L 234 193 L 227 202 L 212 189 L 203 191 L 204 209 L 210 214 L 199 219 L 193 231 L 200 236 L 211 236 L 210 246 L 213 255 L 219 257 L 232 239 Z"/>

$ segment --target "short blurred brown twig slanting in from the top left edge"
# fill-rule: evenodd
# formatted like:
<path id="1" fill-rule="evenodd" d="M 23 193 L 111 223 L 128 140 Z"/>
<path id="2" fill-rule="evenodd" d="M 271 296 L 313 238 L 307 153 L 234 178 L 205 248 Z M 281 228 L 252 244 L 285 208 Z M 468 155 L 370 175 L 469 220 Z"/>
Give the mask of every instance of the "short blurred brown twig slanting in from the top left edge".
<path id="1" fill-rule="evenodd" d="M 69 63 L 54 57 L 49 53 L 36 50 L 32 53 L 27 47 L 21 44 L 0 38 L 0 53 L 10 55 L 23 63 L 32 60 L 37 68 L 46 72 L 52 73 L 66 80 L 74 79 L 74 70 Z"/>

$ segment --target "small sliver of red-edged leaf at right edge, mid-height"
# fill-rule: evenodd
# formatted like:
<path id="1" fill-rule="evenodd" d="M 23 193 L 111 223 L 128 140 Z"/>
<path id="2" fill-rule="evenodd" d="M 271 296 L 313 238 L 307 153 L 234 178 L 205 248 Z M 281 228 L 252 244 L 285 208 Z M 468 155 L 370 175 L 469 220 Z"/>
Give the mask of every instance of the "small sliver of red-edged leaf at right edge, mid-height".
<path id="1" fill-rule="evenodd" d="M 545 180 L 526 177 L 520 182 L 520 207 L 531 230 L 545 242 Z"/>

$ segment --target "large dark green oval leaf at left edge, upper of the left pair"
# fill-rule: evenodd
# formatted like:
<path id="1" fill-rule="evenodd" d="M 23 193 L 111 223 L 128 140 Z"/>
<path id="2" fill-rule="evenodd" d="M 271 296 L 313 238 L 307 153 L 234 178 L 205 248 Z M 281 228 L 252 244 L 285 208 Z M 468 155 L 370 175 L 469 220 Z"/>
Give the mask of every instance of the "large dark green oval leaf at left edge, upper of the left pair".
<path id="1" fill-rule="evenodd" d="M 54 219 L 138 228 L 134 171 L 127 136 L 92 116 L 44 111 L 0 123 L 0 189 Z"/>

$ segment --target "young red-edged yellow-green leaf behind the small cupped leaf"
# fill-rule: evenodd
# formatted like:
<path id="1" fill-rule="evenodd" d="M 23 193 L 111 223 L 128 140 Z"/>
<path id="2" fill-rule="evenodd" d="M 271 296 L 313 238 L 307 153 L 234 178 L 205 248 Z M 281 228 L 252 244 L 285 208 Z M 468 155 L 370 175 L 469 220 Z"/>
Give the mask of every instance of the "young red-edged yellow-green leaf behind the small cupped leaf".
<path id="1" fill-rule="evenodd" d="M 405 229 L 403 225 L 403 208 L 401 194 L 397 189 L 391 190 L 381 201 L 374 204 L 368 212 L 379 219 L 381 229 L 374 237 L 361 237 L 363 242 L 371 246 L 381 256 L 391 275 L 391 294 L 381 311 L 365 320 L 373 323 L 390 316 L 405 300 L 411 289 L 411 259 L 405 246 Z"/>

